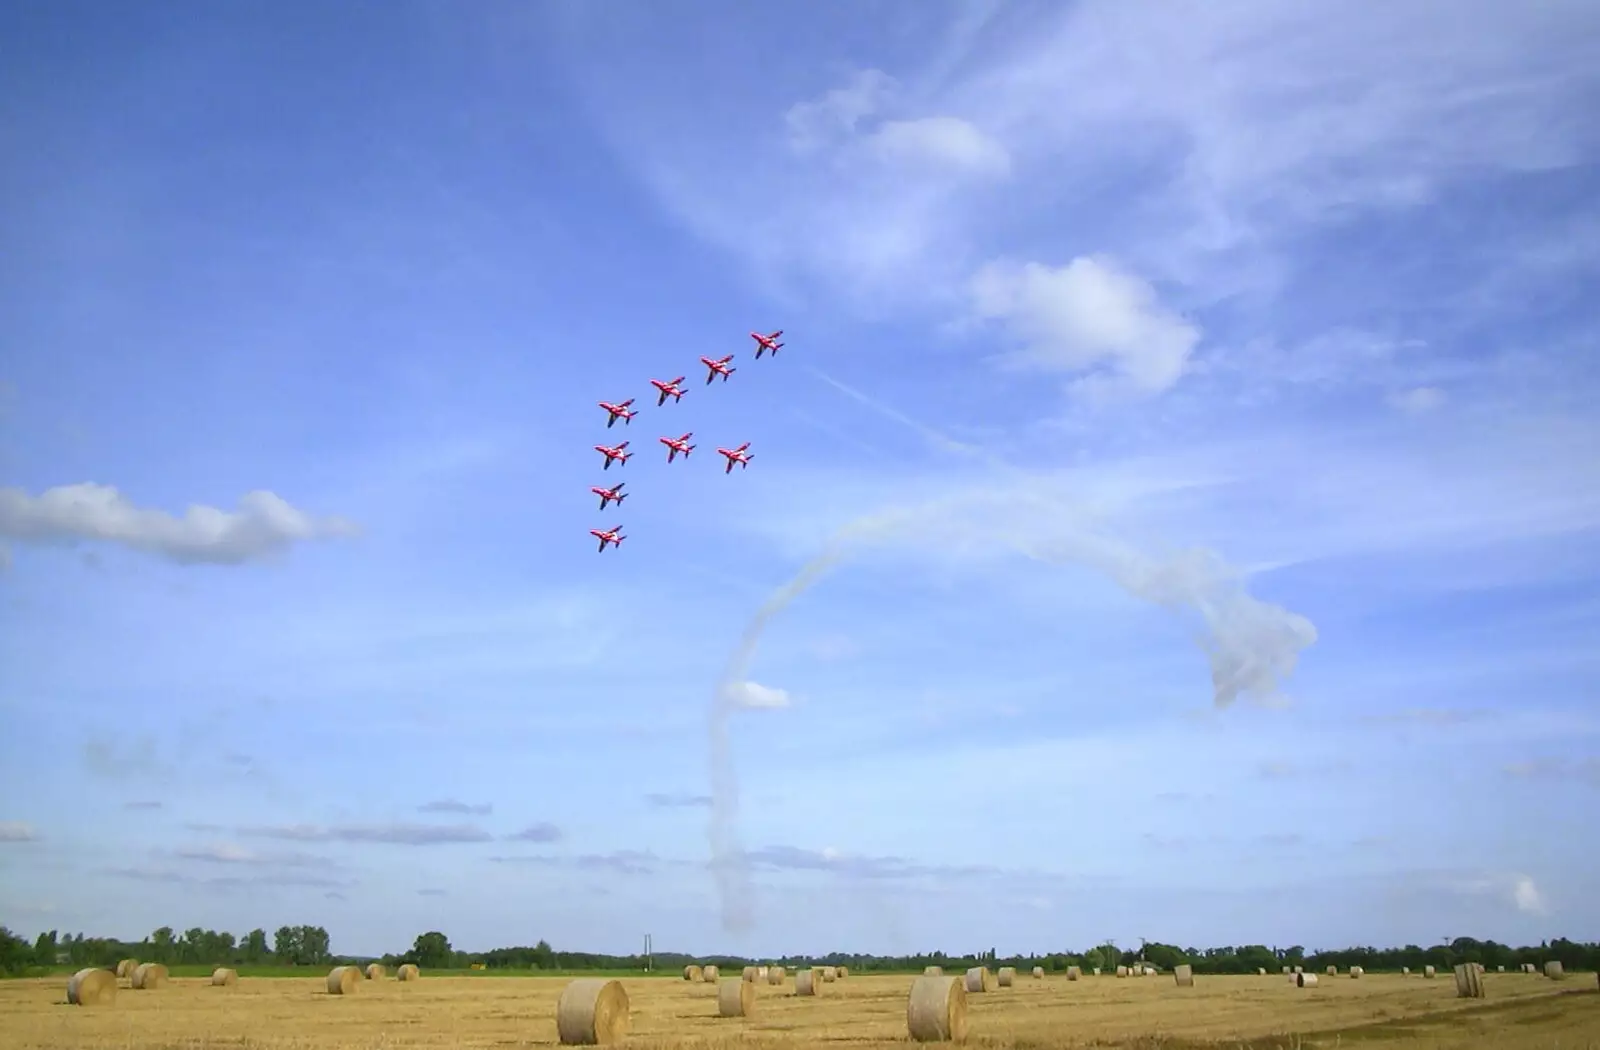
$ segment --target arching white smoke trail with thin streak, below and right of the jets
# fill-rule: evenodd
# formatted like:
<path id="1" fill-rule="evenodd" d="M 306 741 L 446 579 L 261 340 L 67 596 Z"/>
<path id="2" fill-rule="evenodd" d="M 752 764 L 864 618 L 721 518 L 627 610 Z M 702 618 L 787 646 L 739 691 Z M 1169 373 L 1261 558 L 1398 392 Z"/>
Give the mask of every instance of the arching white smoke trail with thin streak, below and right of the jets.
<path id="1" fill-rule="evenodd" d="M 955 442 L 814 368 L 810 371 L 878 415 L 917 431 L 939 448 L 979 458 L 997 472 L 1027 480 L 1027 474 L 1011 464 Z M 997 507 L 984 506 L 994 499 L 1010 503 L 1024 499 L 1035 504 L 1053 527 L 1053 535 L 1040 539 L 1005 525 L 1008 515 L 995 514 Z M 968 514 L 963 520 L 963 509 L 976 509 L 978 514 Z M 1198 640 L 1211 664 L 1211 696 L 1218 707 L 1227 707 L 1245 695 L 1270 699 L 1278 682 L 1293 674 L 1301 650 L 1317 640 L 1317 627 L 1309 619 L 1253 597 L 1245 591 L 1242 575 L 1210 551 L 1182 551 L 1166 560 L 1150 557 L 1122 539 L 1098 533 L 1086 515 L 1059 499 L 1046 498 L 1035 485 L 1024 483 L 1005 491 L 974 491 L 850 522 L 829 538 L 822 552 L 803 565 L 794 579 L 762 603 L 730 656 L 712 699 L 710 848 L 722 922 L 730 932 L 750 928 L 754 908 L 744 848 L 736 828 L 739 796 L 728 744 L 728 719 L 736 709 L 734 690 L 749 675 L 762 632 L 773 616 L 837 567 L 853 546 L 880 535 L 902 538 L 909 530 L 928 525 L 941 530 L 946 538 L 965 531 L 966 538 L 1002 543 L 1046 565 L 1086 565 L 1106 573 L 1126 592 L 1146 602 L 1163 608 L 1192 610 L 1203 627 Z"/>

